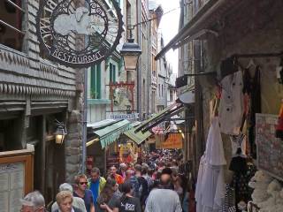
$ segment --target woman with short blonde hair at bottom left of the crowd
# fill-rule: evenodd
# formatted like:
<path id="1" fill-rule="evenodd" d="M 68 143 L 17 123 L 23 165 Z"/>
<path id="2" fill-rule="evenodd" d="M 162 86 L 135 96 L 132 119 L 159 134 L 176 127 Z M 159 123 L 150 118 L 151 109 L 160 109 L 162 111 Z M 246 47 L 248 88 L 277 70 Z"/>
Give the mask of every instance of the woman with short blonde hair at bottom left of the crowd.
<path id="1" fill-rule="evenodd" d="M 69 191 L 57 193 L 56 201 L 58 208 L 55 212 L 82 212 L 79 208 L 73 207 L 73 194 Z"/>

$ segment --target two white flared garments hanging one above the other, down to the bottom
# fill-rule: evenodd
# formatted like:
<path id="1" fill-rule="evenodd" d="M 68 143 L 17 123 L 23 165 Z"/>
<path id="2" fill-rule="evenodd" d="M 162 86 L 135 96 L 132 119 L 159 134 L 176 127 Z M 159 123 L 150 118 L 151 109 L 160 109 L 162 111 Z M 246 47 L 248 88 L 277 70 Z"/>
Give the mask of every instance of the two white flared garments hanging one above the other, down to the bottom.
<path id="1" fill-rule="evenodd" d="M 223 165 L 226 164 L 218 117 L 212 117 L 205 154 L 199 166 L 195 201 L 196 211 L 216 212 L 225 195 Z"/>

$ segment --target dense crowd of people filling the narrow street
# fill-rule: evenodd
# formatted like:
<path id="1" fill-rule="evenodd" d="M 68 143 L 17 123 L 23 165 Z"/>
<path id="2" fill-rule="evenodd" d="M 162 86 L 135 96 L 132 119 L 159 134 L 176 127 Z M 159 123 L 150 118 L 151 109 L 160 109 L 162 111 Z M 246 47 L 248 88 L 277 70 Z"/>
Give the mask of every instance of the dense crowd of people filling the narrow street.
<path id="1" fill-rule="evenodd" d="M 79 174 L 72 186 L 59 186 L 50 211 L 187 212 L 188 180 L 181 172 L 180 155 L 174 151 L 152 152 L 134 165 L 111 166 L 105 178 L 94 167 L 89 178 Z M 45 209 L 42 194 L 37 191 L 28 193 L 21 201 L 23 212 Z"/>

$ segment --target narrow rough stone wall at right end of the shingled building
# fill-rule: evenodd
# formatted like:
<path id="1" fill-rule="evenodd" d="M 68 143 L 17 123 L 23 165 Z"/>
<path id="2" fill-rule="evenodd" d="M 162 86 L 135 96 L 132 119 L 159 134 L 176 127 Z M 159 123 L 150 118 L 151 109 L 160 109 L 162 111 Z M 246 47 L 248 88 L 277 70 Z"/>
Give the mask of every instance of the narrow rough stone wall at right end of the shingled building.
<path id="1" fill-rule="evenodd" d="M 77 0 L 75 7 L 84 6 L 86 3 L 84 0 Z M 85 36 L 76 34 L 75 47 L 76 49 L 82 49 L 85 46 Z M 83 158 L 83 134 L 86 133 L 87 116 L 84 114 L 84 110 L 88 110 L 87 102 L 88 96 L 85 90 L 85 74 L 88 70 L 74 69 L 76 74 L 76 96 L 74 101 L 73 110 L 70 111 L 67 119 L 68 134 L 65 140 L 65 180 L 66 182 L 73 183 L 75 175 L 84 170 L 85 158 Z M 86 101 L 84 101 L 86 98 Z M 85 136 L 87 136 L 85 134 Z M 86 140 L 85 140 L 86 141 Z"/>

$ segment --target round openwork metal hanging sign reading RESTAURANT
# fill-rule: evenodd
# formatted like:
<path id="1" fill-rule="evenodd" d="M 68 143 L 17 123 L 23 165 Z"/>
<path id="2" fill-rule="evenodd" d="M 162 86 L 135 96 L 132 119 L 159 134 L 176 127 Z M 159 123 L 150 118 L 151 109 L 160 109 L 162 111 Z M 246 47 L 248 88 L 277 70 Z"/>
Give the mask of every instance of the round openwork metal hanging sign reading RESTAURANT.
<path id="1" fill-rule="evenodd" d="M 110 2 L 110 3 L 109 3 Z M 41 0 L 36 30 L 50 59 L 71 67 L 98 64 L 121 38 L 123 20 L 115 0 Z"/>

